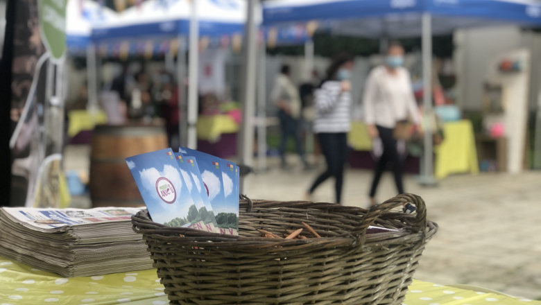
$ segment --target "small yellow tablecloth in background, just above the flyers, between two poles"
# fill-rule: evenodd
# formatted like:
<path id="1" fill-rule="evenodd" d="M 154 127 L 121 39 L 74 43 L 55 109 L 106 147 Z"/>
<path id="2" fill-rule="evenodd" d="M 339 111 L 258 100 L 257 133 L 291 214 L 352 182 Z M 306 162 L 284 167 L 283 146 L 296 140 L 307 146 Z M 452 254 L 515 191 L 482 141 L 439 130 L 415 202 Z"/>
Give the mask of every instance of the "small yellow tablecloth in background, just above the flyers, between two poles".
<path id="1" fill-rule="evenodd" d="M 221 134 L 239 131 L 239 124 L 227 114 L 214 116 L 199 116 L 197 121 L 197 138 L 200 140 L 217 141 Z"/>

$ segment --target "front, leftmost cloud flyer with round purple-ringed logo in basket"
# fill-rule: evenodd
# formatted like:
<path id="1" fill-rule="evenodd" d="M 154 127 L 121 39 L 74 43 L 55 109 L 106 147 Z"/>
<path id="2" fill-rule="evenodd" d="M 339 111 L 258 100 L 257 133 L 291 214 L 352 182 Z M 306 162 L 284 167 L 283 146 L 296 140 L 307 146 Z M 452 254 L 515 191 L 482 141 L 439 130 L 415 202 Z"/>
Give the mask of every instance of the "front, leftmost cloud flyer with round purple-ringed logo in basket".
<path id="1" fill-rule="evenodd" d="M 171 148 L 126 158 L 155 223 L 191 227 L 200 219 Z"/>

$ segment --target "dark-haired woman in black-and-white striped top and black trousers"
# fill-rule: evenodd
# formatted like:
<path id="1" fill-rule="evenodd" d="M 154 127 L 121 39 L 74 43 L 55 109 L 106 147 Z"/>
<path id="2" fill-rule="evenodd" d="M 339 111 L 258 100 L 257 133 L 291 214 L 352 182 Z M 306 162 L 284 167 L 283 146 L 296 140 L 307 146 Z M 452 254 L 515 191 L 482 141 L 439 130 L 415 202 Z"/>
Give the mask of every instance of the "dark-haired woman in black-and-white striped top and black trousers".
<path id="1" fill-rule="evenodd" d="M 345 53 L 338 54 L 327 69 L 327 76 L 315 92 L 316 119 L 314 133 L 325 160 L 327 171 L 319 175 L 307 192 L 310 200 L 314 190 L 327 178 L 335 178 L 336 202 L 341 202 L 345 157 L 346 134 L 350 131 L 351 73 L 353 58 Z"/>

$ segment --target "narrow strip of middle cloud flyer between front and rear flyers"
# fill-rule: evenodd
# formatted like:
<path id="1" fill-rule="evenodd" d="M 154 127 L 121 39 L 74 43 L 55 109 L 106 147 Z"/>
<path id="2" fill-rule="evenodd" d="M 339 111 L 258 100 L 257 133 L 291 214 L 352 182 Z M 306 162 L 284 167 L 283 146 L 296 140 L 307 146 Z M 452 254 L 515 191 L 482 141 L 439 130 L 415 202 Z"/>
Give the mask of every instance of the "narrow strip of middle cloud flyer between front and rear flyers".
<path id="1" fill-rule="evenodd" d="M 174 155 L 180 168 L 180 173 L 182 173 L 184 182 L 186 182 L 190 191 L 191 199 L 194 200 L 199 212 L 200 218 L 195 221 L 196 225 L 202 228 L 198 227 L 198 229 L 219 233 L 216 217 L 214 216 L 214 211 L 212 211 L 212 204 L 210 204 L 195 158 L 184 157 L 182 153 L 174 153 Z M 200 223 L 200 221 L 203 223 Z"/>

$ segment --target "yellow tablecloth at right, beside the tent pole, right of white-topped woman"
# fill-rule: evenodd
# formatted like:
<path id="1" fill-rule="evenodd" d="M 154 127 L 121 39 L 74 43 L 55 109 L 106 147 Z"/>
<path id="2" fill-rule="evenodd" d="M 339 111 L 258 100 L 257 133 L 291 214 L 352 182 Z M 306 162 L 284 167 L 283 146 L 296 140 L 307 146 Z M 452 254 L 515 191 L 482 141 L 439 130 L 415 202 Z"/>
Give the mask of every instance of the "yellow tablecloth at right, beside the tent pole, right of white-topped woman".
<path id="1" fill-rule="evenodd" d="M 434 148 L 436 160 L 434 175 L 437 179 L 454 173 L 479 173 L 472 122 L 448 122 L 444 125 L 445 140 Z"/>

